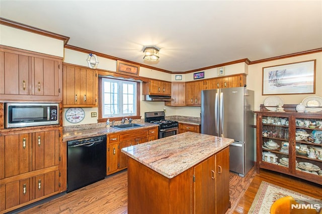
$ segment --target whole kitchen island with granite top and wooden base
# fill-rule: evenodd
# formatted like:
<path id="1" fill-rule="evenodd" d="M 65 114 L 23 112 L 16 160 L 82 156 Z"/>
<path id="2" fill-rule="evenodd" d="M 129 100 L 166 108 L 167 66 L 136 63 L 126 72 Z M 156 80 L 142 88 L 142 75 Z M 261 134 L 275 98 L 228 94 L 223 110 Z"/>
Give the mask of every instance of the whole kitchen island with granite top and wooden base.
<path id="1" fill-rule="evenodd" d="M 123 148 L 128 213 L 224 213 L 232 142 L 186 132 Z"/>

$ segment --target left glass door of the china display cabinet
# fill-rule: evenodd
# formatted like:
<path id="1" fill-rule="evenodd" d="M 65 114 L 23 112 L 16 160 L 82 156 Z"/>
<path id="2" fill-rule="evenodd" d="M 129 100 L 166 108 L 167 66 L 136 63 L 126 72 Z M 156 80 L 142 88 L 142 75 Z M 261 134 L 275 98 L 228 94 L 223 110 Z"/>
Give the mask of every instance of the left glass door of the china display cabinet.
<path id="1" fill-rule="evenodd" d="M 262 161 L 285 167 L 286 171 L 290 154 L 288 125 L 288 117 L 262 117 Z"/>

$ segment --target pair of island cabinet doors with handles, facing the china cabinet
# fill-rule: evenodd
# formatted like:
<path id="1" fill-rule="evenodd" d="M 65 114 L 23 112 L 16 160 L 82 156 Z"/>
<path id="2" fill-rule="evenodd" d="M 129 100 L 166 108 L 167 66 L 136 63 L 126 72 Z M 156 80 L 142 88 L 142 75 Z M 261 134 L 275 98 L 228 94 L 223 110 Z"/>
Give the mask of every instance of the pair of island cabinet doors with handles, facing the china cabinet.
<path id="1" fill-rule="evenodd" d="M 195 213 L 225 213 L 229 203 L 229 147 L 194 167 Z"/>

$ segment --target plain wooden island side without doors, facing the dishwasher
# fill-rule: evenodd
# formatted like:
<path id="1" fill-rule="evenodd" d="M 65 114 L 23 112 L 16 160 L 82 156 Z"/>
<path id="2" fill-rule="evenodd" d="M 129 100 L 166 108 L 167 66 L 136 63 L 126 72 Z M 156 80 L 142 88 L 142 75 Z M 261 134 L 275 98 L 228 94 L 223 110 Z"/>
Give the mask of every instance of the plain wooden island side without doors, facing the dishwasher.
<path id="1" fill-rule="evenodd" d="M 170 179 L 128 158 L 127 173 L 129 214 L 191 213 L 192 169 Z"/>

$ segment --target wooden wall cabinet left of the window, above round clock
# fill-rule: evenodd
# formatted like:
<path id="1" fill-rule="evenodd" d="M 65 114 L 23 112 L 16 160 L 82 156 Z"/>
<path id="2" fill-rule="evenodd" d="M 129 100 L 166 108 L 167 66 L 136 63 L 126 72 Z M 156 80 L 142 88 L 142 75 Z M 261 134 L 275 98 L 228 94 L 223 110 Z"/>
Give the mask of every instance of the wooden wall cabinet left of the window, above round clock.
<path id="1" fill-rule="evenodd" d="M 96 107 L 97 71 L 64 64 L 63 89 L 63 107 Z"/>

